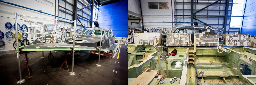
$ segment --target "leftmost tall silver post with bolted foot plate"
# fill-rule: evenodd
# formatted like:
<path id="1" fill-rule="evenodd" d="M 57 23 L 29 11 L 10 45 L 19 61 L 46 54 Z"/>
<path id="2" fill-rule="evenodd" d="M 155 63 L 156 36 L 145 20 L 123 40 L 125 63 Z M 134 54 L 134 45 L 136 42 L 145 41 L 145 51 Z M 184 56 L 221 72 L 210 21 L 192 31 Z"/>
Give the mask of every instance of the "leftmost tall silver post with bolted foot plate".
<path id="1" fill-rule="evenodd" d="M 15 28 L 17 28 L 15 31 L 16 31 L 16 41 L 19 41 L 18 39 L 18 19 L 17 19 L 17 13 L 15 12 L 14 13 L 14 18 L 15 18 Z M 19 64 L 19 81 L 17 81 L 17 84 L 20 83 L 24 83 L 25 82 L 25 79 L 22 79 L 22 76 L 21 76 L 21 69 L 20 69 L 20 56 L 19 56 L 19 42 L 16 42 L 17 43 L 17 59 L 18 59 L 18 64 Z"/>

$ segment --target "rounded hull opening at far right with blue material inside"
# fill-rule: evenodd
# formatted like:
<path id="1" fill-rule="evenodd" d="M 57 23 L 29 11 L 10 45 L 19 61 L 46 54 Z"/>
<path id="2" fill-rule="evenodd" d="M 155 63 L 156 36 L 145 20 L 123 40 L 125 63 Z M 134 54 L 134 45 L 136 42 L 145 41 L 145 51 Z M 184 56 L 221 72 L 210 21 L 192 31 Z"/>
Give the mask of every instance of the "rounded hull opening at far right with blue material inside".
<path id="1" fill-rule="evenodd" d="M 251 75 L 252 72 L 251 67 L 245 63 L 240 64 L 239 70 L 243 75 Z"/>

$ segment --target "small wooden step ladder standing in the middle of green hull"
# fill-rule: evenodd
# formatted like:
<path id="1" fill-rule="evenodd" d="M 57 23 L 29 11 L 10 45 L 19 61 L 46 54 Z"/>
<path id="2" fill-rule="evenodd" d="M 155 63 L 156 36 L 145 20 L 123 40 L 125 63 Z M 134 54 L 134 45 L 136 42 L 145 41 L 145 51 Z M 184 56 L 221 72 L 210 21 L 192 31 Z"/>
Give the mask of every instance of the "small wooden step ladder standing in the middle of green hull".
<path id="1" fill-rule="evenodd" d="M 195 52 L 196 52 L 196 45 L 195 45 L 195 39 L 194 38 L 194 45 L 193 45 L 193 50 L 189 48 L 189 51 L 188 51 L 188 64 L 193 64 L 193 67 L 195 67 Z"/>

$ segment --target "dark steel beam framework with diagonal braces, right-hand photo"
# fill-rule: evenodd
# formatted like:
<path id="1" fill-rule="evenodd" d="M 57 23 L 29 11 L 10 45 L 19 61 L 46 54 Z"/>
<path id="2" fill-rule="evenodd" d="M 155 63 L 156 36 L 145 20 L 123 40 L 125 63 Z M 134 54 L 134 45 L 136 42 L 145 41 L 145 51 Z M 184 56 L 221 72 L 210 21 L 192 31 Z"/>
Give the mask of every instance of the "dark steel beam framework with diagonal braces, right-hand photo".
<path id="1" fill-rule="evenodd" d="M 227 24 L 227 19 L 229 19 L 230 18 L 230 16 L 231 15 L 228 15 L 228 11 L 231 11 L 231 10 L 228 10 L 228 7 L 229 7 L 229 4 L 232 4 L 232 3 L 230 3 L 229 2 L 229 0 L 224 0 L 225 2 L 222 2 L 222 0 L 216 0 L 215 2 L 209 2 L 209 0 L 207 0 L 207 2 L 200 2 L 200 1 L 194 1 L 194 0 L 191 0 L 191 2 L 186 2 L 186 1 L 174 1 L 174 16 L 175 16 L 175 22 L 179 22 L 179 21 L 181 21 L 181 22 L 188 22 L 188 21 L 184 21 L 184 18 L 191 18 L 191 22 L 194 22 L 194 19 L 196 20 L 196 21 L 199 21 L 199 22 L 202 22 L 202 23 L 205 23 L 207 26 L 209 26 L 209 27 L 212 27 L 212 26 L 210 26 L 210 25 L 217 25 L 217 27 L 219 27 L 219 26 L 223 26 L 223 28 L 224 29 L 226 29 L 226 26 L 227 25 L 229 25 L 229 24 Z M 185 4 L 191 4 L 191 9 L 187 9 L 187 8 L 184 8 L 184 5 Z M 196 9 L 194 9 L 194 8 L 196 8 L 196 5 L 197 5 L 197 3 L 198 4 L 207 4 L 205 7 L 203 7 L 203 8 L 201 8 L 201 9 L 198 9 L 198 10 L 196 10 Z M 181 8 L 181 6 L 179 7 L 179 8 L 177 8 L 177 6 L 178 5 L 183 5 L 183 7 Z M 208 9 L 208 7 L 209 6 L 212 6 L 213 4 L 219 4 L 218 6 L 218 9 Z M 223 4 L 225 4 L 224 6 L 225 6 L 225 8 L 224 9 L 221 9 L 221 7 L 220 6 L 223 6 Z M 183 12 L 182 12 L 182 14 L 183 15 L 180 15 L 180 14 L 178 14 L 177 12 L 178 12 L 178 10 L 183 10 Z M 185 15 L 185 12 L 184 11 L 191 11 L 191 15 Z M 207 15 L 196 15 L 199 11 L 202 11 L 202 10 L 204 10 L 204 11 L 206 11 L 207 12 Z M 208 11 L 218 11 L 218 15 L 208 15 Z M 220 15 L 220 13 L 222 12 L 222 11 L 224 11 L 224 15 Z M 181 11 L 180 11 L 181 12 Z M 200 20 L 200 19 L 198 19 L 198 18 L 206 18 L 206 22 L 203 22 L 202 20 Z M 216 24 L 207 24 L 207 22 L 208 22 L 208 19 L 210 19 L 210 18 L 217 18 L 218 19 L 218 22 L 216 22 Z M 223 20 L 223 22 L 221 23 L 219 20 L 221 19 L 221 18 L 224 18 Z M 181 20 L 181 19 L 183 19 L 183 20 Z M 175 26 L 177 26 L 177 24 L 175 24 Z M 193 26 L 193 23 L 191 23 L 191 26 Z"/>

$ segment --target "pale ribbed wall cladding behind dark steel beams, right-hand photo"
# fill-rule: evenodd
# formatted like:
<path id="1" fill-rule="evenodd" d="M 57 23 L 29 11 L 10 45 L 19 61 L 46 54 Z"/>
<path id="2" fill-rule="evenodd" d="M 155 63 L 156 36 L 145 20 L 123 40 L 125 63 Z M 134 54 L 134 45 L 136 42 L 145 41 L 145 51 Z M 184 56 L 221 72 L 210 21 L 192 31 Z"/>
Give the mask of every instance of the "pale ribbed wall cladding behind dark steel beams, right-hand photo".
<path id="1" fill-rule="evenodd" d="M 215 2 L 216 0 L 194 0 L 194 11 L 199 10 L 203 7 L 206 7 L 207 5 L 211 4 L 212 2 Z M 197 3 L 198 2 L 198 3 Z M 232 2 L 232 0 L 230 0 Z M 175 16 L 175 22 L 191 22 L 191 0 L 176 0 L 174 3 L 174 13 L 175 15 L 189 15 L 189 16 Z M 231 5 L 229 4 L 229 10 L 231 10 Z M 203 17 L 203 16 L 196 16 L 196 15 L 225 15 L 225 0 L 221 0 L 201 11 L 195 14 L 194 17 L 197 19 L 209 24 L 212 27 L 219 27 L 222 28 L 224 24 L 224 17 Z M 228 12 L 228 15 L 230 15 L 230 11 Z M 229 17 L 228 17 L 228 23 L 229 24 Z M 197 20 L 193 19 L 193 22 Z M 199 22 L 199 21 L 197 21 Z M 191 26 L 190 23 L 177 23 L 177 27 L 183 27 L 183 26 Z M 204 26 L 203 24 L 199 24 L 199 26 Z M 228 30 L 229 25 L 227 25 Z"/>

